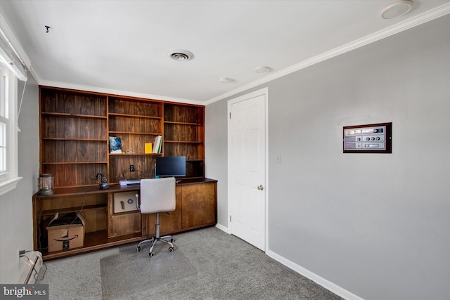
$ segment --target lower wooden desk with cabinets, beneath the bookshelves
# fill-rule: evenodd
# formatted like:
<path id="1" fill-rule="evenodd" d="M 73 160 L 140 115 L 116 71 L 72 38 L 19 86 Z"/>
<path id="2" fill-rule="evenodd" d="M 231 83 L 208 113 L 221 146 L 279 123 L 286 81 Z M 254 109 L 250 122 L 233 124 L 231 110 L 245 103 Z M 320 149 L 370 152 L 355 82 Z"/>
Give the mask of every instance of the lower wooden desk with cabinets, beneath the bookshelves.
<path id="1" fill-rule="evenodd" d="M 139 192 L 139 185 L 121 187 L 110 185 L 108 190 L 98 186 L 58 188 L 53 195 L 33 195 L 34 250 L 40 251 L 44 260 L 115 247 L 119 244 L 139 242 L 155 235 L 155 214 L 140 211 L 114 213 L 114 195 L 122 192 Z M 56 214 L 81 212 L 86 219 L 84 246 L 58 252 L 47 251 L 47 231 Z M 176 210 L 160 214 L 161 235 L 174 235 L 196 228 L 217 224 L 217 181 L 186 179 L 176 184 Z"/>

